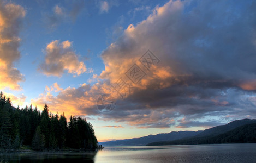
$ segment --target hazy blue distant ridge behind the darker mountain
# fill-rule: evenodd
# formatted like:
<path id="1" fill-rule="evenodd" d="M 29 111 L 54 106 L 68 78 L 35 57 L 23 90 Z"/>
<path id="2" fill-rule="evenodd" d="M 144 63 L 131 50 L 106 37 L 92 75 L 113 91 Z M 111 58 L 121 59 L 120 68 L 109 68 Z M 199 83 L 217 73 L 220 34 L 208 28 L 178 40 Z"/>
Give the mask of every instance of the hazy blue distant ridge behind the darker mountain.
<path id="1" fill-rule="evenodd" d="M 201 131 L 173 131 L 171 133 L 148 135 L 140 138 L 99 142 L 99 144 L 103 146 L 145 146 L 155 141 L 177 140 L 184 137 L 195 136 L 199 133 L 201 133 Z"/>

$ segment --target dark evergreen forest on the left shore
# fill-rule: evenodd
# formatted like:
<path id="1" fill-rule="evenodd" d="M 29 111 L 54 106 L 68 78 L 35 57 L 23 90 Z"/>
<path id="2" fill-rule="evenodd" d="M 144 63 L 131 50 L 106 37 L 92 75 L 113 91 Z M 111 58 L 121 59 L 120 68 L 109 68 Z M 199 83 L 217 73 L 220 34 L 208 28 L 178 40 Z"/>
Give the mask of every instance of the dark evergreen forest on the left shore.
<path id="1" fill-rule="evenodd" d="M 47 104 L 43 111 L 32 105 L 15 108 L 10 97 L 0 92 L 0 151 L 94 150 L 97 142 L 93 126 L 85 118 L 70 116 L 68 122 L 64 113 L 49 112 Z"/>

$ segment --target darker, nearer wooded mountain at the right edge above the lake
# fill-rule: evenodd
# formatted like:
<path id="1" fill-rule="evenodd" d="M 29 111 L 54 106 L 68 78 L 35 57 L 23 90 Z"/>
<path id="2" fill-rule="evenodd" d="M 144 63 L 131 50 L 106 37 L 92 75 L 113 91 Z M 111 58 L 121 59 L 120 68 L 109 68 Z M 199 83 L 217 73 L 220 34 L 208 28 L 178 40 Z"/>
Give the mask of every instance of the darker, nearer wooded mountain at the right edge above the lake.
<path id="1" fill-rule="evenodd" d="M 210 143 L 256 143 L 256 120 L 236 120 L 202 131 L 198 135 L 174 141 L 158 141 L 147 146 L 195 145 Z"/>

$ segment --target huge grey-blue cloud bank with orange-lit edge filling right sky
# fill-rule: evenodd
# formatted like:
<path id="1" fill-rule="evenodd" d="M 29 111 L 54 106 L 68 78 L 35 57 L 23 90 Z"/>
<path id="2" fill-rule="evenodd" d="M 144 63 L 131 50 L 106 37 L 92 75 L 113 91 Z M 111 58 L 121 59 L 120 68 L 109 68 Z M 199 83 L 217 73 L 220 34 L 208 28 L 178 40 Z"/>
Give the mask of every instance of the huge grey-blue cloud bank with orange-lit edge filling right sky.
<path id="1" fill-rule="evenodd" d="M 64 97 L 70 97 L 79 114 L 137 128 L 206 127 L 256 118 L 255 11 L 256 3 L 249 1 L 169 1 L 130 24 L 105 49 L 98 83 L 84 91 L 64 89 L 51 103 L 65 106 Z M 140 70 L 136 77 L 143 77 L 134 82 L 129 70 Z M 123 99 L 111 89 L 122 82 L 131 88 L 121 92 Z M 117 99 L 111 113 L 97 110 L 102 93 Z M 186 121 L 179 121 L 182 117 Z"/>

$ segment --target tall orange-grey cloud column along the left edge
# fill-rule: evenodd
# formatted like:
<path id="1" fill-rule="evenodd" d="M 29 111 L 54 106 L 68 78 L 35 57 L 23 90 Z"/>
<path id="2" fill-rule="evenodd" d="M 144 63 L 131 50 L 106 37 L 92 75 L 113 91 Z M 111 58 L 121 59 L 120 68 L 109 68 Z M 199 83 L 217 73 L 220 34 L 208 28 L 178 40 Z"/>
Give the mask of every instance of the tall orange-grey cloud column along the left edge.
<path id="1" fill-rule="evenodd" d="M 0 89 L 21 90 L 25 77 L 15 68 L 20 59 L 19 33 L 26 11 L 20 5 L 0 1 Z"/>

